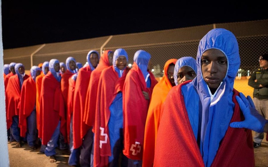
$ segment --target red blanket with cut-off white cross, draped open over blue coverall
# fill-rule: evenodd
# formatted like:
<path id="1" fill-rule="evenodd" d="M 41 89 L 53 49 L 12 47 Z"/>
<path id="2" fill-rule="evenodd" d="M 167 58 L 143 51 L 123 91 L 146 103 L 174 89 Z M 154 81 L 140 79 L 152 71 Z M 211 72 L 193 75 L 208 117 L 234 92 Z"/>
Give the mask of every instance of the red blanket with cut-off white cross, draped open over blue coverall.
<path id="1" fill-rule="evenodd" d="M 108 129 L 111 114 L 109 107 L 117 93 L 122 91 L 125 76 L 128 71 L 129 68 L 127 67 L 121 78 L 118 77 L 118 73 L 113 66 L 104 69 L 101 73 L 94 125 L 94 166 L 108 166 L 108 156 L 111 156 Z"/>

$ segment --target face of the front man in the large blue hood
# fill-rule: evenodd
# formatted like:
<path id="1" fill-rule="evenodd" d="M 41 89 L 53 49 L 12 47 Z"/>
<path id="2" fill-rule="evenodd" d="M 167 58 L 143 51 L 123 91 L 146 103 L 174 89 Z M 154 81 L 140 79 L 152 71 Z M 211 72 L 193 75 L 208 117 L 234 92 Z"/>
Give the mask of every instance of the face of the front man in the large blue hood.
<path id="1" fill-rule="evenodd" d="M 201 57 L 202 75 L 214 94 L 227 72 L 227 59 L 218 49 L 209 49 Z"/>

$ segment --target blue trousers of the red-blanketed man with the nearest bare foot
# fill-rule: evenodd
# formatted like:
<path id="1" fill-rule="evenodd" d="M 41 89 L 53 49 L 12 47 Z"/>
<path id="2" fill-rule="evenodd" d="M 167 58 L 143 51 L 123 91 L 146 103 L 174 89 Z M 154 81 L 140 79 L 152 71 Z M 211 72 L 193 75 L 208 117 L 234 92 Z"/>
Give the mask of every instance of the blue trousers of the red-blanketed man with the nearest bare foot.
<path id="1" fill-rule="evenodd" d="M 60 136 L 60 121 L 58 123 L 58 126 L 56 127 L 52 137 L 48 141 L 45 149 L 46 156 L 52 156 L 56 154 L 55 149 L 58 147 L 58 139 Z"/>

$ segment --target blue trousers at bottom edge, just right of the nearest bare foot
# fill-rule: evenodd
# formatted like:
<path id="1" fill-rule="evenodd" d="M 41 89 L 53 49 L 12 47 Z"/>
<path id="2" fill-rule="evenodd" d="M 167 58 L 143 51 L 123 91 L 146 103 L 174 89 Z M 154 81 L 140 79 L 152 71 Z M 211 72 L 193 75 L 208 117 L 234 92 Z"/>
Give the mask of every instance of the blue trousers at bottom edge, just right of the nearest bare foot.
<path id="1" fill-rule="evenodd" d="M 79 164 L 79 154 L 80 154 L 80 149 L 74 149 L 72 126 L 73 126 L 73 116 L 71 116 L 71 122 L 70 122 L 70 151 L 71 151 L 71 154 L 70 154 L 69 160 L 68 160 L 68 164 L 70 166 Z"/>

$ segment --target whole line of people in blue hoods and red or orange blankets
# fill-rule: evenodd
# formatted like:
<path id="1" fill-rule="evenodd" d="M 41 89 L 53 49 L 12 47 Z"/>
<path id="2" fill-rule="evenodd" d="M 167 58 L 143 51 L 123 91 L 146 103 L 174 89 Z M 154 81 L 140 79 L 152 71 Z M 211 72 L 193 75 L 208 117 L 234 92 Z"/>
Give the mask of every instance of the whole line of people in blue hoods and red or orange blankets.
<path id="1" fill-rule="evenodd" d="M 86 59 L 83 67 L 51 59 L 30 76 L 9 65 L 7 127 L 17 147 L 41 141 L 50 162 L 57 147 L 69 148 L 70 166 L 255 165 L 251 130 L 268 132 L 268 121 L 233 88 L 240 57 L 232 32 L 209 31 L 196 60 L 169 59 L 159 82 L 144 50 L 132 68 L 123 48 Z"/>

